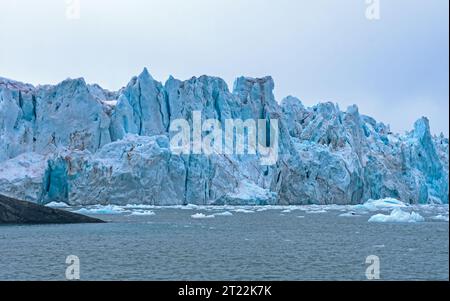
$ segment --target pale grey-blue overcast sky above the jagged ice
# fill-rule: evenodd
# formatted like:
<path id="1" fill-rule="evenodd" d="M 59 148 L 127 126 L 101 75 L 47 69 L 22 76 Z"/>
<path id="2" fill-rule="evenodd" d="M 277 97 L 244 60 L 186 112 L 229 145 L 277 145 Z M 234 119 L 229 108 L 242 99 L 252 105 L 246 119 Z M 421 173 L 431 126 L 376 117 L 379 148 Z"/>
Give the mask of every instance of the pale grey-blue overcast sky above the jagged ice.
<path id="1" fill-rule="evenodd" d="M 372 21 L 365 1 L 79 0 L 71 19 L 69 0 L 0 0 L 0 76 L 115 90 L 145 66 L 230 89 L 272 75 L 277 100 L 357 104 L 397 132 L 427 116 L 448 136 L 449 1 L 380 0 Z"/>

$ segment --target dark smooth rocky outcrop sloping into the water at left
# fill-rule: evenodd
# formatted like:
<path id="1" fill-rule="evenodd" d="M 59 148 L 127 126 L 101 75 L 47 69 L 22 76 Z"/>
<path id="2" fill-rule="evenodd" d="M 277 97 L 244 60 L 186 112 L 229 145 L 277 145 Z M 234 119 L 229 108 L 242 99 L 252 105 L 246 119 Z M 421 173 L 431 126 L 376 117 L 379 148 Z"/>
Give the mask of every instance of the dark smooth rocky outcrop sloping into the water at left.
<path id="1" fill-rule="evenodd" d="M 82 224 L 104 221 L 0 195 L 1 224 Z"/>

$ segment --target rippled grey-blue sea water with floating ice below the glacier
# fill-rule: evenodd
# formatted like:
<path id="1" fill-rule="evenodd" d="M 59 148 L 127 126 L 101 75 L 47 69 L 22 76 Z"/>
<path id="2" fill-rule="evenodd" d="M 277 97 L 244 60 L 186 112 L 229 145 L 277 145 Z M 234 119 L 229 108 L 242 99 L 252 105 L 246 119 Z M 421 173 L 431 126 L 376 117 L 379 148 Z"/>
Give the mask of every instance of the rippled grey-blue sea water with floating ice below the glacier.
<path id="1" fill-rule="evenodd" d="M 81 280 L 366 280 L 369 256 L 382 280 L 449 279 L 448 206 L 417 223 L 294 208 L 84 208 L 108 223 L 0 226 L 0 280 L 65 280 L 70 255 Z"/>

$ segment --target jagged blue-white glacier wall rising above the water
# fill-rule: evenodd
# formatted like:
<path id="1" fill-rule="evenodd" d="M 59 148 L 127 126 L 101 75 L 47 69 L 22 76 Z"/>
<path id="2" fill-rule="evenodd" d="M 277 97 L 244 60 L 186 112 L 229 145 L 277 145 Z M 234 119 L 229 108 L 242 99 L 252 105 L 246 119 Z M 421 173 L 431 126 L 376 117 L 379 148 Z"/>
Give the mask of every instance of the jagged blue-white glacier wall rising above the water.
<path id="1" fill-rule="evenodd" d="M 427 118 L 397 134 L 357 106 L 278 102 L 274 87 L 271 77 L 239 77 L 232 91 L 211 76 L 162 84 L 147 69 L 119 91 L 0 77 L 0 194 L 70 206 L 448 204 L 448 138 Z M 170 123 L 194 111 L 278 119 L 277 163 L 174 154 Z"/>

